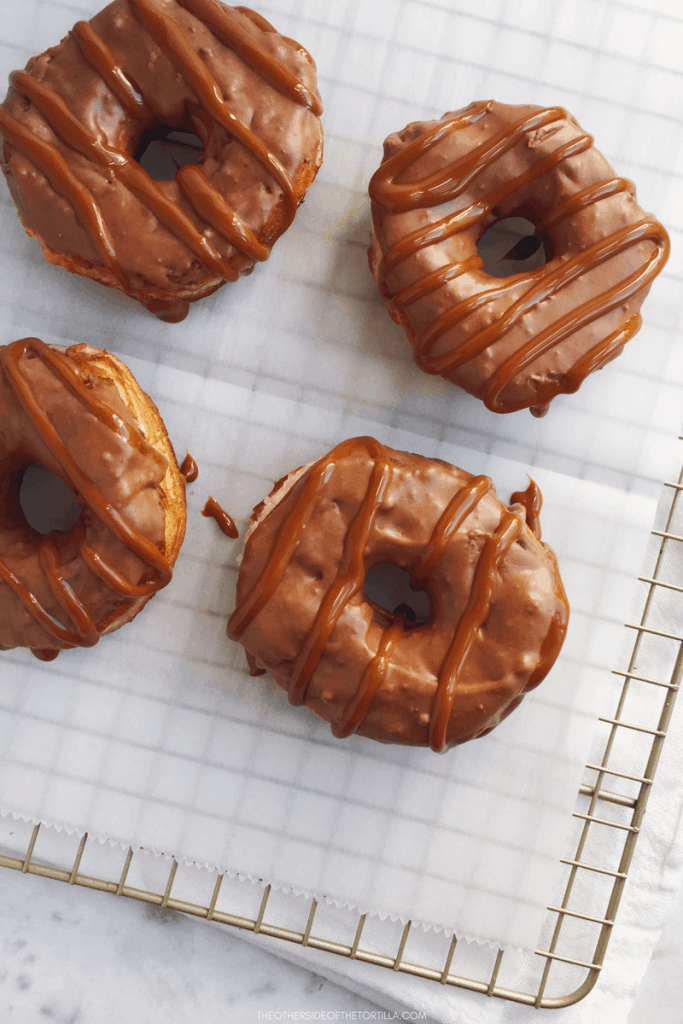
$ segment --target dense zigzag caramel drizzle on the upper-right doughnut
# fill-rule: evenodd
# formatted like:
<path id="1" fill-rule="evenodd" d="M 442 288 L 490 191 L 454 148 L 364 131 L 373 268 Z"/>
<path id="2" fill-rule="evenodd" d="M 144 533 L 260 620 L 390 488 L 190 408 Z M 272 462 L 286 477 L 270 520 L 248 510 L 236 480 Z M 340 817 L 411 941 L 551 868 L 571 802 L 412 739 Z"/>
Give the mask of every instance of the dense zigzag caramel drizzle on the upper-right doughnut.
<path id="1" fill-rule="evenodd" d="M 462 114 L 450 121 L 439 122 L 411 142 L 404 150 L 387 160 L 376 172 L 370 184 L 370 194 L 374 202 L 390 213 L 395 213 L 421 207 L 432 207 L 456 199 L 482 171 L 516 145 L 528 132 L 568 117 L 566 111 L 561 108 L 538 111 L 533 115 L 519 120 L 507 130 L 497 133 L 486 142 L 481 143 L 473 153 L 455 161 L 449 167 L 419 181 L 396 183 L 395 179 L 408 171 L 432 145 L 452 132 L 470 124 L 473 118 L 485 113 L 489 105 L 490 102 L 470 104 Z M 440 243 L 476 224 L 506 196 L 558 166 L 570 156 L 587 150 L 592 141 L 590 135 L 582 135 L 571 142 L 559 146 L 524 174 L 487 196 L 479 198 L 476 203 L 450 214 L 426 228 L 414 231 L 405 239 L 401 239 L 384 254 L 380 263 L 379 275 L 383 276 L 389 273 L 421 249 Z M 566 217 L 587 209 L 593 203 L 622 191 L 633 193 L 633 183 L 626 178 L 610 178 L 596 182 L 578 191 L 563 204 L 551 210 L 537 226 L 536 232 L 539 234 L 543 230 L 554 227 Z M 599 319 L 647 288 L 659 272 L 669 258 L 669 238 L 665 228 L 656 220 L 646 217 L 635 225 L 620 228 L 611 236 L 594 243 L 585 252 L 566 260 L 555 270 L 549 271 L 546 267 L 542 267 L 528 274 L 531 281 L 528 289 L 500 318 L 468 338 L 455 352 L 430 356 L 435 342 L 466 316 L 495 299 L 515 292 L 519 288 L 519 276 L 515 275 L 507 284 L 496 285 L 484 292 L 462 300 L 445 313 L 436 317 L 420 337 L 416 337 L 416 362 L 430 374 L 447 375 L 452 373 L 500 341 L 506 332 L 514 327 L 533 306 L 550 298 L 584 273 L 596 269 L 613 256 L 645 241 L 652 242 L 654 248 L 640 270 L 632 273 L 625 282 L 606 289 L 593 299 L 589 299 L 555 325 L 542 331 L 499 367 L 483 395 L 487 409 L 492 412 L 512 412 L 524 408 L 526 404 L 524 399 L 515 404 L 501 401 L 502 392 L 514 377 L 569 335 Z M 407 308 L 412 303 L 442 287 L 447 281 L 461 273 L 475 271 L 479 269 L 480 265 L 478 257 L 469 257 L 462 262 L 449 263 L 398 292 L 393 299 L 389 299 L 389 304 L 394 309 Z M 560 392 L 575 391 L 589 373 L 618 354 L 629 338 L 636 333 L 640 323 L 639 314 L 630 317 L 625 326 L 602 339 L 581 356 L 561 379 L 546 383 L 542 393 L 539 392 L 535 397 L 535 401 L 544 403 Z"/>

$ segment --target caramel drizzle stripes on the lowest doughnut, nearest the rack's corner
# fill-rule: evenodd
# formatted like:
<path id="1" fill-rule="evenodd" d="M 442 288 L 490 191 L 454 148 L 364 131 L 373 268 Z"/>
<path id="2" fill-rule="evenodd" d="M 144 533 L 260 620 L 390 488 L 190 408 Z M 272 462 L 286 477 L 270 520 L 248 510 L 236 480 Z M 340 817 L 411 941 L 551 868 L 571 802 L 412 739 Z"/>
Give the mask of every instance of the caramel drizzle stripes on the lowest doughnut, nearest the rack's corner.
<path id="1" fill-rule="evenodd" d="M 337 574 L 321 602 L 313 625 L 297 657 L 289 685 L 289 699 L 294 705 L 304 702 L 308 684 L 335 626 L 347 603 L 362 588 L 366 577 L 365 551 L 376 514 L 391 479 L 391 463 L 382 444 L 372 437 L 342 441 L 309 470 L 304 477 L 301 493 L 280 526 L 266 564 L 227 624 L 228 636 L 238 640 L 282 582 L 304 536 L 313 508 L 337 463 L 361 451 L 367 452 L 372 458 L 373 468 L 365 497 L 346 532 Z M 488 477 L 476 476 L 450 501 L 414 569 L 413 582 L 416 586 L 422 585 L 428 579 L 452 538 L 474 512 L 490 487 L 492 481 Z M 467 607 L 438 674 L 430 719 L 430 744 L 434 751 L 441 751 L 445 746 L 447 724 L 459 676 L 476 639 L 477 631 L 488 614 L 498 568 L 522 527 L 523 518 L 520 510 L 504 510 L 498 529 L 484 543 Z M 383 631 L 377 652 L 366 668 L 354 696 L 344 709 L 339 722 L 333 726 L 335 736 L 339 738 L 350 736 L 361 724 L 386 676 L 392 654 L 407 632 L 405 625 L 403 615 L 398 613 Z"/>

